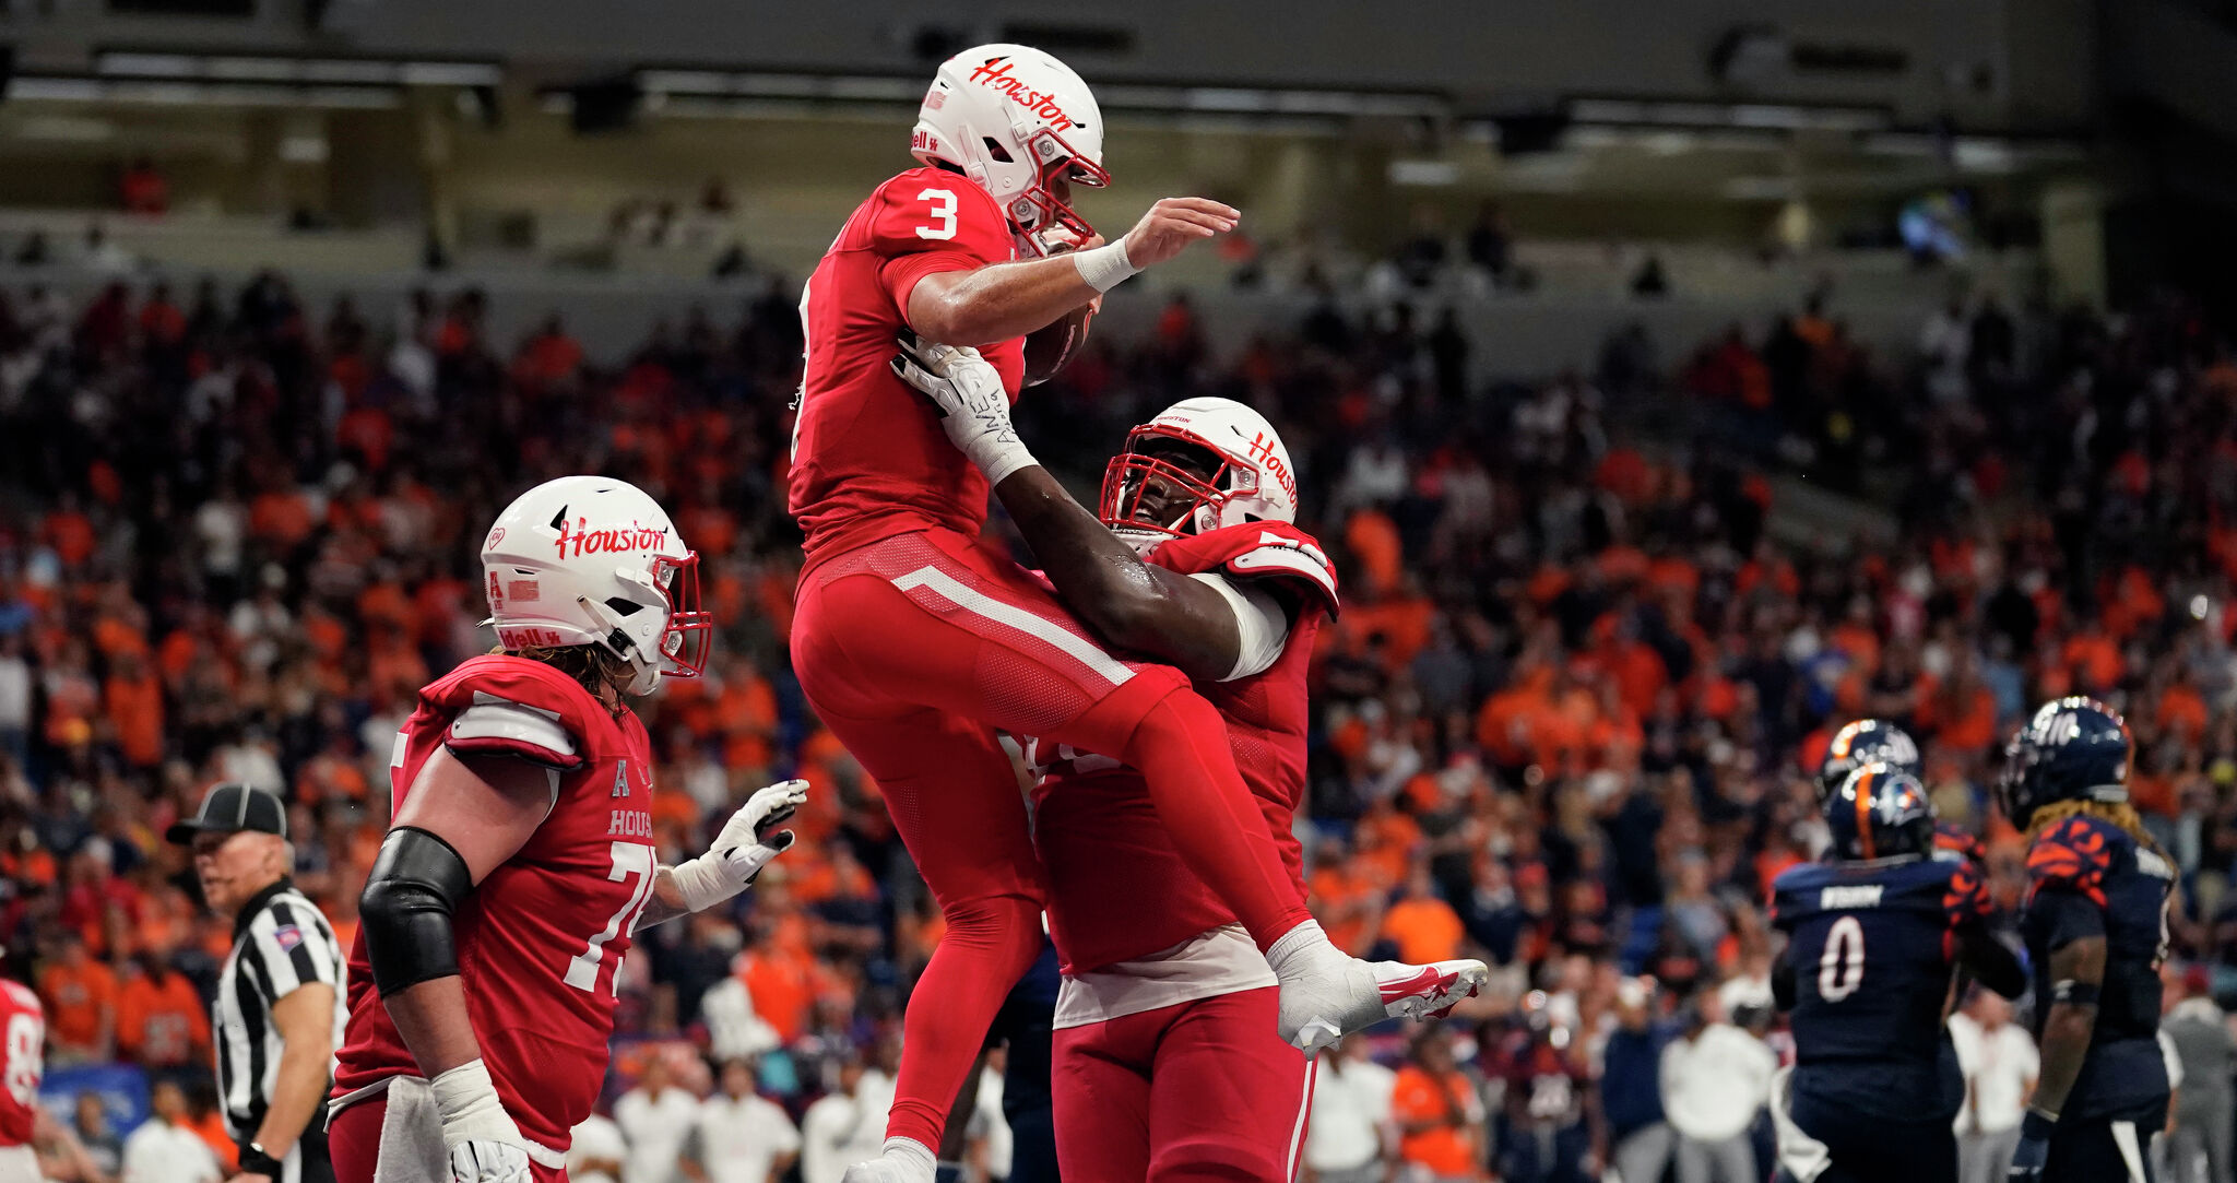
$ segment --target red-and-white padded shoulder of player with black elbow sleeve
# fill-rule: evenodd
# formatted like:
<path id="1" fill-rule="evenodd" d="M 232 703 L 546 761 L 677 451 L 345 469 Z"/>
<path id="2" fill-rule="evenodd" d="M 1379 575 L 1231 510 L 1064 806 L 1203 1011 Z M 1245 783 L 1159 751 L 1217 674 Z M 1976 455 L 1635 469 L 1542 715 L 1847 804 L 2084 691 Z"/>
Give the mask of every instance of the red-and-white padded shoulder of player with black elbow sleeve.
<path id="1" fill-rule="evenodd" d="M 519 756 L 555 769 L 586 760 L 602 707 L 579 682 L 526 657 L 472 657 L 421 691 L 450 713 L 443 745 L 463 756 Z"/>

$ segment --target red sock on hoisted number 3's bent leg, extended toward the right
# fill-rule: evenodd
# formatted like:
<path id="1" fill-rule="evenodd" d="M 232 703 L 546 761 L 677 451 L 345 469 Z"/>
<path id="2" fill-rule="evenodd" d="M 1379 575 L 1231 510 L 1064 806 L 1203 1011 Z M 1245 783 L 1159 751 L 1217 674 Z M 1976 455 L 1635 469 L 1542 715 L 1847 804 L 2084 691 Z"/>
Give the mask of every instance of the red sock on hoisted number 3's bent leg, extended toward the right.
<path id="1" fill-rule="evenodd" d="M 1235 772 L 1228 725 L 1210 702 L 1192 691 L 1168 693 L 1143 716 L 1118 758 L 1150 785 L 1150 805 L 1188 870 L 1244 921 L 1262 950 L 1313 919 L 1250 787 Z"/>

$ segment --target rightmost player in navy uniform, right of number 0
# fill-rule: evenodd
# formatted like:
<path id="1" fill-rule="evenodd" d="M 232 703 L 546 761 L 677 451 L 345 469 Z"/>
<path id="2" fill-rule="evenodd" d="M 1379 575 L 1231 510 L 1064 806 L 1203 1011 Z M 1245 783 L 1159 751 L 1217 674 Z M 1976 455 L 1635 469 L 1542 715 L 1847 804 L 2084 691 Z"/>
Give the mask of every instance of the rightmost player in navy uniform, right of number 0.
<path id="1" fill-rule="evenodd" d="M 2127 803 L 2127 722 L 2094 698 L 2045 702 L 2004 749 L 1998 801 L 2029 834 L 2020 933 L 2042 1076 L 2013 1183 L 2150 1183 L 2168 1125 L 2159 966 L 2174 865 Z"/>

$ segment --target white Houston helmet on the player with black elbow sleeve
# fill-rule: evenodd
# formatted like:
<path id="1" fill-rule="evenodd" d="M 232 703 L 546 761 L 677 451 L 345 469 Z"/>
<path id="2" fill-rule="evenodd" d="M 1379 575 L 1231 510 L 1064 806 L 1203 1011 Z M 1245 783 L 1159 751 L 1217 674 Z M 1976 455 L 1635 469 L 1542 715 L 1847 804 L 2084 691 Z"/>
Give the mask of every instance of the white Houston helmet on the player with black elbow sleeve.
<path id="1" fill-rule="evenodd" d="M 698 678 L 714 646 L 698 555 L 629 481 L 561 476 L 506 505 L 481 543 L 497 644 L 595 644 L 629 662 L 629 693 Z"/>

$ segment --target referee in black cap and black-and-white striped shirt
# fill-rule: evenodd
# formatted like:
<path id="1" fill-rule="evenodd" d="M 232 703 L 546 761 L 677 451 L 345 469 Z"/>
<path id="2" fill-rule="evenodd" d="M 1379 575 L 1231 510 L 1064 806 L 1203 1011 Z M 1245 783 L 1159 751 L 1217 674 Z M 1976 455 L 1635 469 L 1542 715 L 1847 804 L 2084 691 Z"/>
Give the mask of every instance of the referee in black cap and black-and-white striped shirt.
<path id="1" fill-rule="evenodd" d="M 213 912 L 233 915 L 217 975 L 217 1096 L 242 1152 L 233 1183 L 331 1183 L 324 1100 L 342 1042 L 342 948 L 295 890 L 286 807 L 251 785 L 217 785 L 166 836 L 195 848 Z"/>

